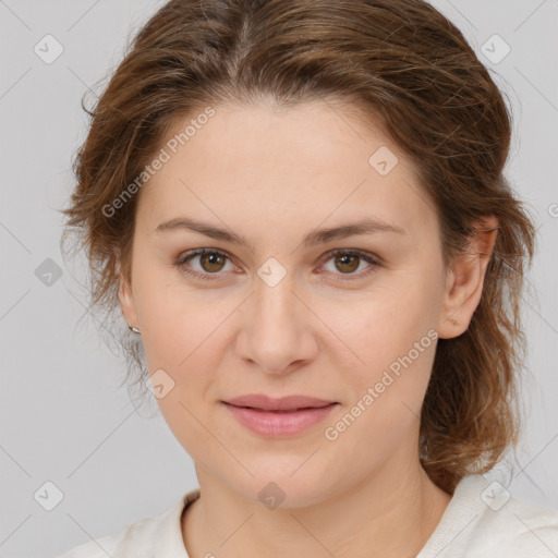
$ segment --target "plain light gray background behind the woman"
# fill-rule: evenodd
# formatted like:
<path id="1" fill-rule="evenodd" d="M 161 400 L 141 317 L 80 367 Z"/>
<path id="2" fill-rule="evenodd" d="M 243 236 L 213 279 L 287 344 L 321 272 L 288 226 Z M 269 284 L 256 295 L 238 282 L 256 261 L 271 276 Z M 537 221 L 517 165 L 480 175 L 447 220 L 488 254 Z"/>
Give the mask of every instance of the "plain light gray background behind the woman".
<path id="1" fill-rule="evenodd" d="M 119 388 L 124 364 L 87 315 L 84 264 L 65 267 L 61 216 L 71 158 L 85 137 L 84 92 L 120 60 L 128 38 L 163 2 L 0 0 L 0 556 L 56 556 L 167 509 L 197 486 L 193 462 L 162 417 Z M 464 33 L 513 107 L 508 175 L 530 206 L 539 252 L 524 296 L 529 424 L 513 496 L 558 509 L 557 0 L 433 2 Z M 47 64 L 45 35 L 63 46 Z M 489 60 L 498 34 L 511 52 Z M 490 43 L 488 43 L 488 46 Z M 495 44 L 495 54 L 504 52 Z M 49 49 L 53 52 L 53 49 Z M 493 56 L 494 58 L 494 56 Z M 44 264 L 62 270 L 48 282 Z M 74 265 L 75 264 L 75 265 Z M 36 275 L 36 269 L 39 269 Z M 63 494 L 47 511 L 34 498 L 50 481 Z M 52 494 L 52 490 L 50 490 Z"/>

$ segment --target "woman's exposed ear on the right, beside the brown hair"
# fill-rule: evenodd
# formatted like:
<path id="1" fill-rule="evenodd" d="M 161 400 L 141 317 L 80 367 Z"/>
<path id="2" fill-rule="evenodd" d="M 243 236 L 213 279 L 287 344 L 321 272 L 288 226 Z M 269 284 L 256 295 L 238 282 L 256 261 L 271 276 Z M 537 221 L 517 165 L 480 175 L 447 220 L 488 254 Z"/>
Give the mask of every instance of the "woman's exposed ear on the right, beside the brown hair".
<path id="1" fill-rule="evenodd" d="M 477 228 L 471 236 L 470 248 L 448 270 L 438 336 L 451 339 L 465 332 L 481 302 L 486 268 L 490 260 L 498 219 L 484 216 L 472 223 Z"/>

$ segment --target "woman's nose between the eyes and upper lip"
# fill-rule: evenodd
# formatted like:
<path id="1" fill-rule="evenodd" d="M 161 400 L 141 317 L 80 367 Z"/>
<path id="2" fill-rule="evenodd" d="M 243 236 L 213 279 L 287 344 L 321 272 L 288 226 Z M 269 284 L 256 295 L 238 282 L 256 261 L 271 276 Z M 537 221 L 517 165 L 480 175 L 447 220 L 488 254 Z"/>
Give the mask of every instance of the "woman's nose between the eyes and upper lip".
<path id="1" fill-rule="evenodd" d="M 314 327 L 319 320 L 303 299 L 289 274 L 274 287 L 256 278 L 242 310 L 238 354 L 272 375 L 289 374 L 315 359 Z"/>

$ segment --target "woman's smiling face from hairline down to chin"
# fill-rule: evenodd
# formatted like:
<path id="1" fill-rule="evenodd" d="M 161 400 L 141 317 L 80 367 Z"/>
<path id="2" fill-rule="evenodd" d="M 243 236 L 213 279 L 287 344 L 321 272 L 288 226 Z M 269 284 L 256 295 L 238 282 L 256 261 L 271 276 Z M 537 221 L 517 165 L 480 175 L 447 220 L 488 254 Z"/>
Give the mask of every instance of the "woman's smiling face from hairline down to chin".
<path id="1" fill-rule="evenodd" d="M 401 474 L 436 338 L 452 337 L 438 220 L 410 162 L 317 102 L 215 107 L 175 150 L 141 192 L 121 304 L 198 477 L 254 501 L 275 483 L 298 507 Z M 317 233 L 366 220 L 385 227 Z M 223 404 L 254 393 L 336 404 L 301 430 L 254 432 Z"/>

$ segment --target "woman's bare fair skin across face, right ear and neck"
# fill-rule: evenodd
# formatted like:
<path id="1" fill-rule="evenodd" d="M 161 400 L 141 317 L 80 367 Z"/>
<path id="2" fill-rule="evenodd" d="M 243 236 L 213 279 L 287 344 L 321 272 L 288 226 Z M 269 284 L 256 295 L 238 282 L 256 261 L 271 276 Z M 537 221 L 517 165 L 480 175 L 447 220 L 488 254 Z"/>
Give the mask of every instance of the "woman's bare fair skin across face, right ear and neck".
<path id="1" fill-rule="evenodd" d="M 415 556 L 451 499 L 418 460 L 436 341 L 337 439 L 324 430 L 428 330 L 444 339 L 466 330 L 496 233 L 480 234 L 445 269 L 434 205 L 411 162 L 378 126 L 341 106 L 215 109 L 141 192 L 131 283 L 122 278 L 120 289 L 150 373 L 162 368 L 174 381 L 157 401 L 196 466 L 202 497 L 182 517 L 186 550 L 192 558 Z M 387 175 L 368 163 L 381 146 L 399 158 Z M 234 231 L 252 247 L 186 229 L 155 231 L 185 216 Z M 364 217 L 407 232 L 301 244 L 316 228 Z M 497 221 L 487 216 L 482 225 Z M 175 263 L 201 247 L 227 255 L 217 264 L 189 260 L 209 279 Z M 328 255 L 333 248 L 364 251 L 379 265 L 356 258 L 351 267 Z M 287 271 L 272 288 L 257 275 L 269 257 Z M 268 439 L 220 403 L 245 393 L 340 404 L 296 436 Z M 275 509 L 258 498 L 269 482 L 284 493 Z"/>

